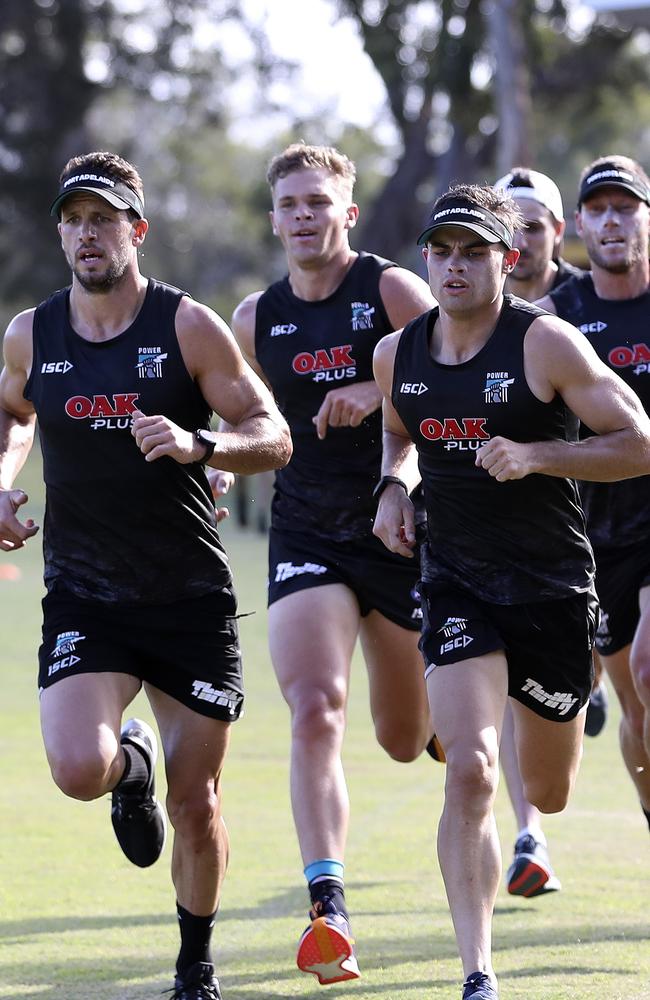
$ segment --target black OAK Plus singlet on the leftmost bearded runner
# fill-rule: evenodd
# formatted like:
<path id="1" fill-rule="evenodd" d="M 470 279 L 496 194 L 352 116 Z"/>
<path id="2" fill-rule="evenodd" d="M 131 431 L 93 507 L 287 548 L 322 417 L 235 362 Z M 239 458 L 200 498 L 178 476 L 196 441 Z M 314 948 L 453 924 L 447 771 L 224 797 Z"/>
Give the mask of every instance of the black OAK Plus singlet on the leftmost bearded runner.
<path id="1" fill-rule="evenodd" d="M 69 288 L 36 309 L 24 395 L 43 451 L 48 590 L 162 604 L 230 582 L 202 466 L 146 462 L 130 431 L 134 408 L 186 430 L 208 426 L 176 337 L 184 294 L 150 280 L 133 324 L 101 342 L 72 329 Z"/>

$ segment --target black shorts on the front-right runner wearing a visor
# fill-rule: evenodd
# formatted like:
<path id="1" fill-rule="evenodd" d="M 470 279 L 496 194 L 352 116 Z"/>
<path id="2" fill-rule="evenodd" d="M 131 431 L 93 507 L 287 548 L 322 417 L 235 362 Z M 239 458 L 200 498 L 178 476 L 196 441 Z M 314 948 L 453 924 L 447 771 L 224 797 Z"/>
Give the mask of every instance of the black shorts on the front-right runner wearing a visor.
<path id="1" fill-rule="evenodd" d="M 457 587 L 422 583 L 420 649 L 436 667 L 503 649 L 508 694 L 554 722 L 589 700 L 598 623 L 593 592 L 532 604 L 488 604 Z"/>

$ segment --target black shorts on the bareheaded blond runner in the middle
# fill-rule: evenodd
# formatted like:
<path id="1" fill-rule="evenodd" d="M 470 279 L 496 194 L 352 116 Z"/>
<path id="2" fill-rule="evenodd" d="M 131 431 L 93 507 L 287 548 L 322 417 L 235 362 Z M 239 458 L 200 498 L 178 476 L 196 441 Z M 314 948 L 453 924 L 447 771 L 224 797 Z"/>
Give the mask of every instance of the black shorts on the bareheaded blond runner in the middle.
<path id="1" fill-rule="evenodd" d="M 287 594 L 343 583 L 355 594 L 362 617 L 379 611 L 403 628 L 419 631 L 420 562 L 389 552 L 375 535 L 335 542 L 271 528 L 269 606 Z"/>

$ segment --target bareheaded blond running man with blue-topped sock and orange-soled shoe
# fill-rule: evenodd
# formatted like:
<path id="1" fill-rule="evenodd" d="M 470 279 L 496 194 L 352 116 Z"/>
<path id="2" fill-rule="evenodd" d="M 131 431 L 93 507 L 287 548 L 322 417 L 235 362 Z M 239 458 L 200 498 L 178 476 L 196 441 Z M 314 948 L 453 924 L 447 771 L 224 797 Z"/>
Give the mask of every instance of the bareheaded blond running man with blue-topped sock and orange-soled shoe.
<path id="1" fill-rule="evenodd" d="M 291 801 L 312 903 L 297 961 L 320 983 L 359 974 L 343 893 L 349 804 L 341 763 L 357 636 L 381 745 L 413 760 L 431 735 L 418 567 L 372 534 L 381 462 L 372 353 L 432 299 L 421 278 L 350 248 L 354 176 L 350 160 L 328 147 L 296 144 L 272 161 L 271 221 L 289 274 L 248 296 L 233 317 L 294 442 L 272 504 L 269 643 L 292 716 Z"/>

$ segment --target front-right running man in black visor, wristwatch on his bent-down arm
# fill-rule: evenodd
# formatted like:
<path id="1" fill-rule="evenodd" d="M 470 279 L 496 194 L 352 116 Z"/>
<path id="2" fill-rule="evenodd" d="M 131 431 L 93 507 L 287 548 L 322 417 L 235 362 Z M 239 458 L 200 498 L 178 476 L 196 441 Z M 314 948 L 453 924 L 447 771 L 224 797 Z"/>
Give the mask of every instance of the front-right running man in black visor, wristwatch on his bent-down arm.
<path id="1" fill-rule="evenodd" d="M 421 648 L 447 755 L 438 855 L 463 1000 L 498 996 L 492 807 L 508 696 L 528 800 L 561 810 L 578 771 L 597 607 L 575 477 L 650 470 L 650 421 L 634 393 L 569 324 L 504 298 L 519 224 L 493 188 L 439 198 L 419 242 L 440 305 L 375 350 L 385 428 L 375 532 L 392 552 L 415 545 L 414 453 L 424 486 Z M 576 443 L 574 413 L 597 436 Z"/>

